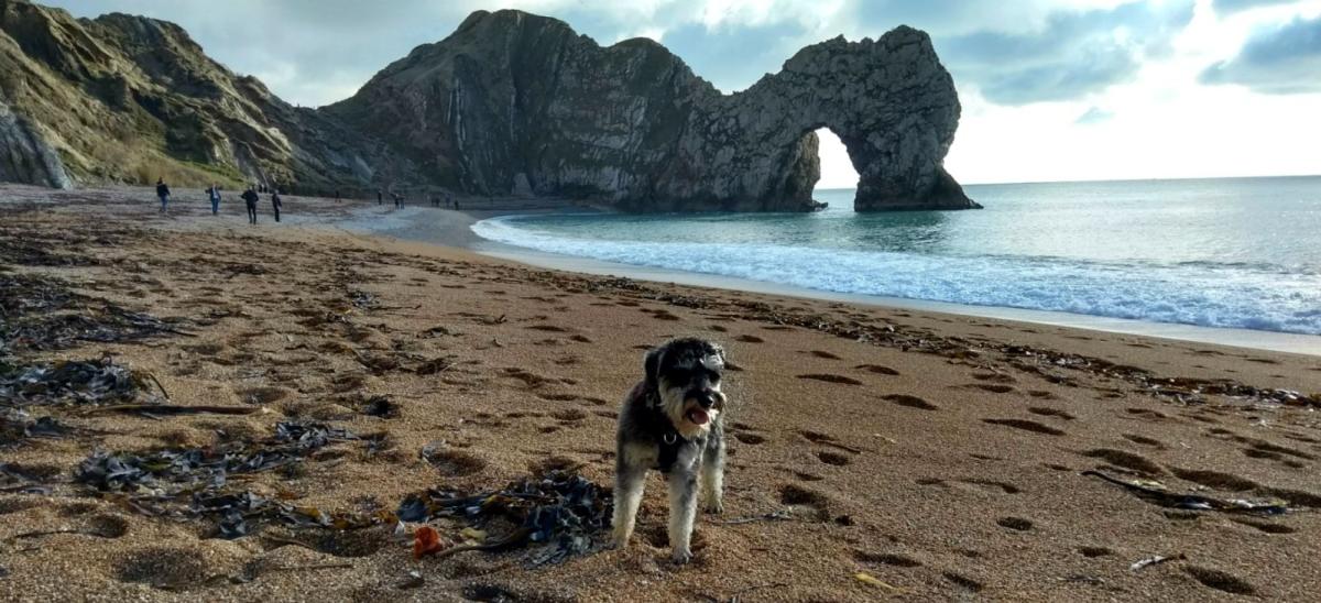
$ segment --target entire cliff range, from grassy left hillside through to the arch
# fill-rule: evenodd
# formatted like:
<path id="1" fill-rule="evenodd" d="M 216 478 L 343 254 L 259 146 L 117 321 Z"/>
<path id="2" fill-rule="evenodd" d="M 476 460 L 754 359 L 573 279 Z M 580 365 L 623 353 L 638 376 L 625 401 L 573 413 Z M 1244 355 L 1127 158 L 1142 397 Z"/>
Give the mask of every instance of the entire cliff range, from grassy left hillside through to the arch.
<path id="1" fill-rule="evenodd" d="M 353 98 L 295 108 L 178 26 L 0 0 L 0 179 L 267 181 L 546 195 L 626 211 L 797 211 L 816 128 L 860 173 L 856 208 L 975 207 L 945 172 L 959 102 L 922 32 L 831 40 L 723 95 L 649 40 L 476 12 Z"/>

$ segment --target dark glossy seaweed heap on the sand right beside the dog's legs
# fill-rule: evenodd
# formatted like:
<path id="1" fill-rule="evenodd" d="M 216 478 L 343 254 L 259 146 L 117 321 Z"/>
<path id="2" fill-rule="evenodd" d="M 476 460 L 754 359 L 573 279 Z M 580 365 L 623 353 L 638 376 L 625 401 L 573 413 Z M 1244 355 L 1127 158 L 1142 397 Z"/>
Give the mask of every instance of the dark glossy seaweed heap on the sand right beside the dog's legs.
<path id="1" fill-rule="evenodd" d="M 581 475 L 551 470 L 540 476 L 511 482 L 503 490 L 461 493 L 428 490 L 399 503 L 400 521 L 456 519 L 470 528 L 506 536 L 486 545 L 461 550 L 503 550 L 539 545 L 528 562 L 556 563 L 585 554 L 600 545 L 597 537 L 610 525 L 610 492 Z"/>

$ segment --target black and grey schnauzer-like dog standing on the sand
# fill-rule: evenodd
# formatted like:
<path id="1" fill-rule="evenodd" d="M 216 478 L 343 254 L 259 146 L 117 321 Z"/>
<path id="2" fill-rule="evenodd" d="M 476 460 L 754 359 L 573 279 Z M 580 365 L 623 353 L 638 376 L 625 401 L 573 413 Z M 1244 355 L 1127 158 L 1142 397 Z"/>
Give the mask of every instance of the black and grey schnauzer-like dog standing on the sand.
<path id="1" fill-rule="evenodd" d="M 645 376 L 620 412 L 612 520 L 616 548 L 627 546 L 633 536 L 649 470 L 660 471 L 670 487 L 668 532 L 676 563 L 692 558 L 690 538 L 699 492 L 704 511 L 724 511 L 724 368 L 725 351 L 705 339 L 672 339 L 647 351 Z"/>

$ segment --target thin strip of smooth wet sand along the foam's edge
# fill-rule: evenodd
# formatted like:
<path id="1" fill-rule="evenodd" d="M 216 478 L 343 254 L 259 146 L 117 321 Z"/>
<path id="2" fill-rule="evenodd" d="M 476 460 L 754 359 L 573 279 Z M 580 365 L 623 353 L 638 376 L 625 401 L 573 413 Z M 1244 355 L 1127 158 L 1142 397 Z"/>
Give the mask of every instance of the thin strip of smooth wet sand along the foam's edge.
<path id="1" fill-rule="evenodd" d="M 424 208 L 431 210 L 431 208 Z M 915 311 L 930 311 L 941 314 L 955 314 L 962 317 L 991 318 L 997 321 L 1015 321 L 1032 325 L 1081 329 L 1096 333 L 1140 335 L 1159 339 L 1169 339 L 1192 343 L 1210 343 L 1219 346 L 1242 347 L 1247 350 L 1262 350 L 1273 352 L 1301 354 L 1321 356 L 1321 335 L 1305 335 L 1295 333 L 1255 331 L 1247 329 L 1205 327 L 1198 325 L 1181 325 L 1165 322 L 1149 322 L 1128 318 L 1096 317 L 1089 314 L 1070 314 L 1049 310 L 1029 310 L 1018 307 L 978 306 L 970 303 L 951 303 L 926 300 L 908 300 L 898 297 L 867 296 L 856 293 L 836 293 L 819 289 L 807 289 L 794 285 L 785 285 L 770 281 L 756 281 L 724 274 L 707 274 L 697 272 L 675 270 L 667 268 L 639 267 L 594 260 L 590 257 L 565 256 L 560 253 L 542 252 L 503 243 L 482 239 L 470 227 L 477 222 L 513 216 L 532 215 L 567 210 L 544 211 L 453 211 L 441 210 L 440 216 L 432 216 L 427 222 L 406 222 L 391 228 L 373 228 L 362 220 L 355 223 L 353 230 L 371 232 L 382 236 L 391 236 L 400 240 L 433 244 L 439 247 L 457 247 L 481 253 L 487 257 L 517 261 L 526 265 L 548 268 L 553 270 L 567 270 L 597 276 L 620 276 L 651 282 L 672 282 L 678 285 L 704 286 L 713 289 L 729 289 L 736 292 L 764 293 L 782 297 L 798 297 L 818 301 L 834 301 L 855 305 L 876 306 L 881 309 L 905 309 Z M 424 215 L 415 214 L 417 218 Z M 404 220 L 410 220 L 406 218 Z"/>

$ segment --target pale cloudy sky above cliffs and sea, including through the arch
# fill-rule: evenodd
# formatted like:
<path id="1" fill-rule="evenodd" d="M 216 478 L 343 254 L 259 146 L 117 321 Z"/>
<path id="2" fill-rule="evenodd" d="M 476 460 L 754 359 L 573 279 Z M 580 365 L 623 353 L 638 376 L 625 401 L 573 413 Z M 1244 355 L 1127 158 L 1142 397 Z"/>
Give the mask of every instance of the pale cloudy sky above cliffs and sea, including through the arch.
<path id="1" fill-rule="evenodd" d="M 1321 174 L 1321 0 L 45 0 L 178 22 L 291 103 L 353 95 L 476 9 L 657 40 L 725 92 L 799 48 L 905 24 L 931 34 L 963 117 L 964 183 Z M 822 135 L 818 187 L 857 181 Z"/>

